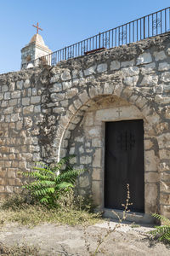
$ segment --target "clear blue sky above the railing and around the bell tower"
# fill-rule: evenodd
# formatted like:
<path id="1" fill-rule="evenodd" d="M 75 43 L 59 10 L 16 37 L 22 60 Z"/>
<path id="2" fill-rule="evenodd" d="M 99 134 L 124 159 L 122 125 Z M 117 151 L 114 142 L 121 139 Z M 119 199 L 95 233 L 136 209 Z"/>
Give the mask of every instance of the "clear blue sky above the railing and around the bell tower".
<path id="1" fill-rule="evenodd" d="M 20 70 L 20 49 L 37 21 L 54 51 L 168 6 L 169 0 L 0 0 L 0 73 Z"/>

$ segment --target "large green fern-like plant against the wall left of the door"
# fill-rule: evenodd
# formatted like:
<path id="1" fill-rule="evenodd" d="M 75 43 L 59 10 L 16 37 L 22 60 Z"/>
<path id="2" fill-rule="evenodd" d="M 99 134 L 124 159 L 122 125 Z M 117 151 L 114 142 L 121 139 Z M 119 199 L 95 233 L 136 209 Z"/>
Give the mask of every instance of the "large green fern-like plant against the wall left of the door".
<path id="1" fill-rule="evenodd" d="M 38 162 L 31 172 L 21 172 L 25 177 L 31 177 L 23 188 L 28 189 L 38 201 L 48 206 L 56 207 L 59 197 L 75 187 L 77 176 L 83 170 L 74 169 L 70 160 L 74 156 L 64 157 L 54 167 Z M 65 169 L 63 169 L 65 166 Z"/>

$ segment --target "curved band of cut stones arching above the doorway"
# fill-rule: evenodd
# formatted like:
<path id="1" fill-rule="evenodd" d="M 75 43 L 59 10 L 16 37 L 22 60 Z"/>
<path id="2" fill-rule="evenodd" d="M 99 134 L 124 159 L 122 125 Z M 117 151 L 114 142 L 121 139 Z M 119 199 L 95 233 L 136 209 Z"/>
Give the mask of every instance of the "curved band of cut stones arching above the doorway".
<path id="1" fill-rule="evenodd" d="M 89 90 L 85 89 L 77 94 L 74 102 L 66 111 L 65 116 L 61 116 L 59 120 L 59 128 L 56 133 L 57 143 L 59 145 L 58 160 L 60 155 L 63 156 L 65 154 L 65 139 L 69 138 L 69 131 L 74 129 L 85 111 L 93 104 L 95 97 L 98 96 L 117 96 L 138 108 L 146 120 L 147 127 L 145 128 L 155 135 L 156 131 L 154 131 L 153 125 L 158 123 L 159 115 L 157 113 L 153 114 L 154 109 L 151 106 L 151 102 L 142 94 L 142 89 L 136 90 L 132 86 L 124 86 L 123 84 L 112 84 L 111 86 L 111 84 L 107 83 L 101 86 L 101 88 L 99 86 L 92 86 Z M 62 154 L 60 154 L 61 152 Z"/>

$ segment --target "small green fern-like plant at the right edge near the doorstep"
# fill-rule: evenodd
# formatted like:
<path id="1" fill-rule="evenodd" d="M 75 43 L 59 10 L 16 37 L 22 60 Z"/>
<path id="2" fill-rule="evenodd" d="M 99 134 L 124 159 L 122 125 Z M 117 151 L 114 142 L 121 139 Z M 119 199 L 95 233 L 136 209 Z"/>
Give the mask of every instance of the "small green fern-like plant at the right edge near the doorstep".
<path id="1" fill-rule="evenodd" d="M 170 220 L 164 216 L 161 216 L 157 213 L 152 214 L 153 217 L 159 219 L 164 223 L 164 225 L 156 226 L 156 230 L 151 230 L 150 234 L 152 236 L 159 236 L 160 241 L 170 242 Z"/>

